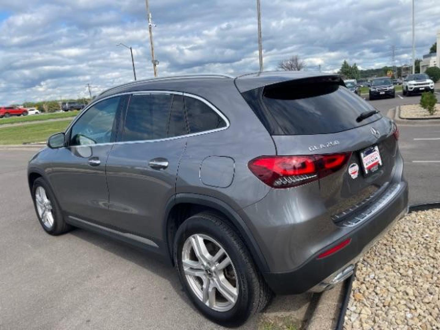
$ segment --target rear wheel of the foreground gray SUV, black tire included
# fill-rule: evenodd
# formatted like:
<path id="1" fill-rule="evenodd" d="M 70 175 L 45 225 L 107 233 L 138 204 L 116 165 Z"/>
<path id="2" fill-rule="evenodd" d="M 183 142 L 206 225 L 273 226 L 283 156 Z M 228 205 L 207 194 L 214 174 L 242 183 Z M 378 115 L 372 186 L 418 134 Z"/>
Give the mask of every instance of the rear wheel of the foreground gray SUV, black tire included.
<path id="1" fill-rule="evenodd" d="M 192 240 L 202 242 L 205 253 L 208 254 L 204 254 L 202 258 L 196 257 Z M 220 253 L 220 249 L 224 250 L 224 254 L 218 260 L 212 260 Z M 211 252 L 208 252 L 209 250 Z M 185 220 L 176 232 L 173 251 L 183 289 L 195 307 L 213 322 L 223 326 L 240 326 L 270 301 L 271 291 L 257 271 L 249 251 L 222 217 L 214 213 L 202 212 Z M 188 266 L 190 263 L 186 262 L 184 268 L 183 258 L 192 261 L 192 266 Z M 204 264 L 210 264 L 212 271 L 202 265 L 200 260 L 203 258 L 208 259 Z M 218 270 L 217 267 L 221 267 L 228 258 L 231 263 L 223 270 Z M 194 271 L 200 275 L 194 275 Z M 220 278 L 222 281 L 219 282 Z M 225 281 L 229 286 L 223 284 Z M 204 297 L 202 287 L 206 283 L 209 283 L 208 288 L 213 296 L 206 293 L 209 298 L 206 299 L 205 304 L 202 301 Z M 224 289 L 226 287 L 229 288 L 230 293 L 236 293 L 235 299 L 232 298 L 232 293 L 229 296 L 231 299 L 225 299 L 226 296 L 217 289 L 220 287 L 217 283 L 222 283 L 221 291 L 227 292 Z"/>

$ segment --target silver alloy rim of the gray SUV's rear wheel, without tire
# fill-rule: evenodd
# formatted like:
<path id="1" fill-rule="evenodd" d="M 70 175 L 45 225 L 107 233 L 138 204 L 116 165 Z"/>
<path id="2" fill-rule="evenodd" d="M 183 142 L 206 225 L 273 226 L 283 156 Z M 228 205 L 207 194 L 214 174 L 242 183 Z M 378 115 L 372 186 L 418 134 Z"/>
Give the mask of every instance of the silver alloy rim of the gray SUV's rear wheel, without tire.
<path id="1" fill-rule="evenodd" d="M 238 298 L 237 273 L 231 258 L 213 238 L 194 234 L 182 249 L 183 272 L 193 293 L 209 308 L 226 312 Z"/>

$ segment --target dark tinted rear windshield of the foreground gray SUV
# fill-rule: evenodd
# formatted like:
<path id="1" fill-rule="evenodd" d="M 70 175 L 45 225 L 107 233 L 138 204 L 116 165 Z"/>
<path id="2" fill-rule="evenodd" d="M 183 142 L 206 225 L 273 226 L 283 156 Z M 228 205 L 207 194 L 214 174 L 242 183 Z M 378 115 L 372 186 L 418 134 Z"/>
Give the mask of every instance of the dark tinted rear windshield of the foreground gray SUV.
<path id="1" fill-rule="evenodd" d="M 336 133 L 380 117 L 358 123 L 359 114 L 375 109 L 338 82 L 282 83 L 266 87 L 260 96 L 255 90 L 243 96 L 272 135 Z"/>

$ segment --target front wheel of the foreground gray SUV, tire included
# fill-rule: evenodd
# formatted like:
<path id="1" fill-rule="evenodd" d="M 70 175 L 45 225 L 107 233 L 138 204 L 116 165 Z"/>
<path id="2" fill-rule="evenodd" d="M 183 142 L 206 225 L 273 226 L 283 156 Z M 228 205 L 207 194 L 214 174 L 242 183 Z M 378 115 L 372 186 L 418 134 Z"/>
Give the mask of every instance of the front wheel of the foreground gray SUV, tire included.
<path id="1" fill-rule="evenodd" d="M 44 196 L 41 193 L 41 190 L 44 191 Z M 44 202 L 46 203 L 46 206 L 48 206 L 47 201 L 49 201 L 49 206 L 51 207 L 50 213 L 51 218 L 47 217 L 44 218 L 41 216 L 39 208 L 41 207 L 40 197 L 37 198 L 37 194 L 41 198 L 43 198 Z M 35 212 L 37 213 L 38 221 L 40 221 L 41 227 L 50 235 L 60 235 L 64 234 L 67 231 L 70 231 L 72 228 L 69 224 L 66 224 L 66 221 L 64 221 L 64 218 L 62 216 L 61 208 L 59 207 L 59 204 L 55 198 L 54 193 L 52 192 L 49 185 L 46 183 L 46 181 L 43 178 L 37 178 L 32 186 L 32 200 L 33 205 L 35 207 Z M 38 202 L 37 202 L 38 200 Z M 44 214 L 44 213 L 43 213 Z M 51 221 L 52 220 L 52 221 Z"/>

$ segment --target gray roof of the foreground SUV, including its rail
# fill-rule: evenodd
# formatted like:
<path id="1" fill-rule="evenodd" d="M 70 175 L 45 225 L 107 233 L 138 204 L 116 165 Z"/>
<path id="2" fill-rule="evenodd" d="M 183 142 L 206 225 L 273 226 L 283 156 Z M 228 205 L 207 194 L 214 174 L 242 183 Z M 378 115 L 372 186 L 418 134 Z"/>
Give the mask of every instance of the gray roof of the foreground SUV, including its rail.
<path id="1" fill-rule="evenodd" d="M 283 81 L 291 81 L 297 79 L 304 79 L 310 77 L 340 77 L 336 74 L 310 72 L 310 71 L 265 71 L 254 73 L 228 73 L 228 74 L 191 74 L 182 76 L 159 77 L 150 78 L 130 83 L 115 86 L 107 89 L 98 95 L 97 99 L 111 96 L 121 92 L 134 92 L 141 90 L 151 90 L 157 88 L 164 88 L 164 83 L 172 82 L 185 86 L 185 84 L 194 84 L 195 81 L 201 80 L 215 84 L 216 81 L 231 81 L 235 83 L 239 92 L 247 92 L 251 89 L 264 87 L 270 84 L 276 84 Z M 95 100 L 94 100 L 95 101 Z"/>

